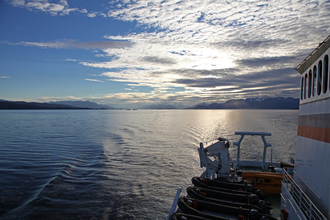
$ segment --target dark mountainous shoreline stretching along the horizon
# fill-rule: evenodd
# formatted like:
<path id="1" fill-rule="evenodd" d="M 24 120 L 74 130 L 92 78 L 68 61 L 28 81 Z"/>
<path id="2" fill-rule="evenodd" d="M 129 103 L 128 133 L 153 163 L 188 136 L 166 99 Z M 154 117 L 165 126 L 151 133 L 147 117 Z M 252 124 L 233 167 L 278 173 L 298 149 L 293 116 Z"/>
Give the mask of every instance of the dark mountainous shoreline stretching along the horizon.
<path id="1" fill-rule="evenodd" d="M 137 107 L 134 107 L 135 109 Z M 49 101 L 25 102 L 0 99 L 0 109 L 116 109 L 109 105 L 90 101 Z M 118 108 L 117 108 L 118 109 Z M 127 108 L 120 108 L 127 109 Z M 134 109 L 134 110 L 135 110 Z M 299 98 L 241 98 L 231 99 L 223 103 L 198 103 L 187 107 L 178 102 L 172 104 L 149 104 L 137 109 L 299 109 Z"/>

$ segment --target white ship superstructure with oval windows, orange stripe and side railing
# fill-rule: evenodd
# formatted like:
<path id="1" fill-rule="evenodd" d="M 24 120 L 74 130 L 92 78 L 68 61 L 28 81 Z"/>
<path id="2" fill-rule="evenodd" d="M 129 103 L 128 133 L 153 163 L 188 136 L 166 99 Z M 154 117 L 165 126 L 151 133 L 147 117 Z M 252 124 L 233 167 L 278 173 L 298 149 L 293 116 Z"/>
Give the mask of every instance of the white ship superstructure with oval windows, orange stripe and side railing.
<path id="1" fill-rule="evenodd" d="M 300 63 L 301 93 L 295 173 L 282 187 L 289 219 L 329 219 L 330 212 L 330 36 Z M 284 181 L 283 181 L 284 182 Z M 322 216 L 323 215 L 323 216 Z"/>

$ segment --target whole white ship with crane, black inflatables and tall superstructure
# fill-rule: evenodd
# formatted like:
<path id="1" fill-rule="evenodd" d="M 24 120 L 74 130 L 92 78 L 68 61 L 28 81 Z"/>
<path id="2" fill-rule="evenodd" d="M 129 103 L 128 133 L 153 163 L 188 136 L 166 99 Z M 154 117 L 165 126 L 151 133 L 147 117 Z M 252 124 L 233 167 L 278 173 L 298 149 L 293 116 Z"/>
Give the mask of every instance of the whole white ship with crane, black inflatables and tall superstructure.
<path id="1" fill-rule="evenodd" d="M 330 35 L 295 68 L 301 74 L 295 159 L 273 163 L 271 149 L 266 161 L 272 146 L 266 141 L 271 133 L 266 132 L 235 132 L 239 138 L 233 143 L 234 160 L 226 138 L 200 143 L 200 165 L 206 169 L 192 178 L 194 186 L 184 197 L 178 188 L 167 219 L 330 220 L 329 57 Z M 261 138 L 261 161 L 240 160 L 245 136 Z M 267 201 L 266 194 L 278 194 L 277 201 L 272 200 L 276 204 Z"/>

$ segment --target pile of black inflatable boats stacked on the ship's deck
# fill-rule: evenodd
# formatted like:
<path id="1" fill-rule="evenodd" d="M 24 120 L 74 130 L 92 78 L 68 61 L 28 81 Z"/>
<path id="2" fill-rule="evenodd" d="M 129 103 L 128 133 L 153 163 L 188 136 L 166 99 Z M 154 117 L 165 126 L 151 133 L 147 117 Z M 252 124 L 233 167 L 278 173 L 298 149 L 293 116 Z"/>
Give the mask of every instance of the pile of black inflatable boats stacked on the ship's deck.
<path id="1" fill-rule="evenodd" d="M 235 179 L 227 182 L 228 179 Z M 215 180 L 193 177 L 194 186 L 187 188 L 187 196 L 179 198 L 177 213 L 172 219 L 250 219 L 275 220 L 272 209 L 260 190 L 248 185 L 247 181 L 236 181 L 237 177 Z"/>

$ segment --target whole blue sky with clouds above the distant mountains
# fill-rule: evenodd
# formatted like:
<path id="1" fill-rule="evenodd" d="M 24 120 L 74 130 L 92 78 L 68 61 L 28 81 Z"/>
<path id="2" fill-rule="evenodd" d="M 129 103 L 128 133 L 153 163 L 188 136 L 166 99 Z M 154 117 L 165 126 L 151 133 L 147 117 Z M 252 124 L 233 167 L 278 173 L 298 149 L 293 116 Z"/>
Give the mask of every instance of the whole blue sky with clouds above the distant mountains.
<path id="1" fill-rule="evenodd" d="M 2 0 L 0 98 L 112 107 L 300 93 L 330 0 Z"/>

